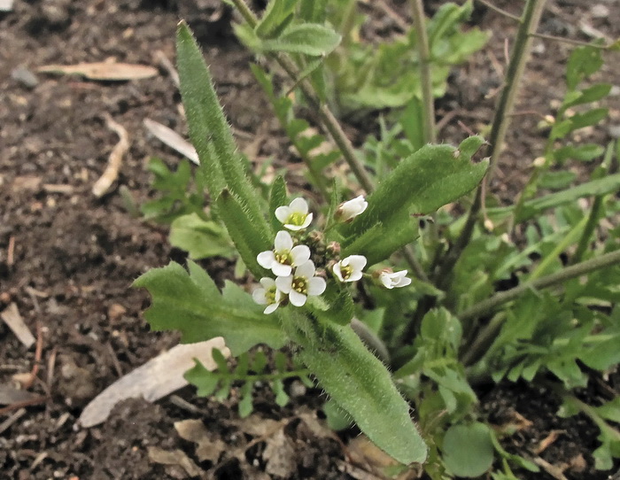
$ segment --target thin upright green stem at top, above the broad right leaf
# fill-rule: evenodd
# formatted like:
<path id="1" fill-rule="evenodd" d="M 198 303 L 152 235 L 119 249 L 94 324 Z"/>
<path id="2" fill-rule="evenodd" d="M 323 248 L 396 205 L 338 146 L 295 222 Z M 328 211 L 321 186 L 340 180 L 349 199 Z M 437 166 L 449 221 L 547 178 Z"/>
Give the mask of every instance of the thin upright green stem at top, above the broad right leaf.
<path id="1" fill-rule="evenodd" d="M 420 79 L 422 81 L 422 109 L 424 116 L 424 142 L 435 143 L 435 104 L 432 81 L 430 80 L 429 36 L 426 35 L 424 6 L 422 0 L 412 0 L 416 47 L 420 58 Z"/>

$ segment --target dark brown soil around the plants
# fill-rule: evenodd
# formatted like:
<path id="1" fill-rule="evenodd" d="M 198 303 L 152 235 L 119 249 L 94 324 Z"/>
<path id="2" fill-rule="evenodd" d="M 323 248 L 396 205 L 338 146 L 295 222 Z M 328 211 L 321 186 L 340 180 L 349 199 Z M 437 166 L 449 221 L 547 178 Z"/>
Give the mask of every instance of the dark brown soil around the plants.
<path id="1" fill-rule="evenodd" d="M 498 4 L 516 13 L 513 2 Z M 611 12 L 607 17 L 593 18 L 589 2 L 550 1 L 540 32 L 586 41 L 578 27 L 584 19 L 617 37 L 620 12 L 613 1 L 600 4 Z M 395 8 L 406 10 L 402 3 Z M 0 477 L 188 477 L 179 465 L 150 460 L 149 448 L 159 447 L 187 453 L 208 472 L 205 477 L 280 478 L 283 474 L 275 472 L 289 471 L 290 478 L 374 478 L 361 476 L 337 437 L 322 436 L 308 427 L 311 422 L 301 413 L 321 405 L 318 391 L 294 396 L 286 408 L 276 406 L 268 391 L 259 393 L 254 421 L 284 425 L 280 450 L 288 455 L 288 467 L 280 470 L 267 468 L 271 459 L 263 455 L 267 440 L 237 423 L 234 400 L 221 404 L 198 399 L 190 388 L 156 404 L 125 401 L 103 425 L 74 428 L 82 407 L 99 391 L 178 342 L 174 334 L 149 331 L 142 318 L 147 295 L 130 284 L 151 267 L 170 259 L 182 261 L 183 254 L 171 250 L 165 228 L 129 215 L 118 187 L 127 187 L 139 204 L 152 194 L 146 160 L 159 156 L 170 165 L 178 160 L 174 151 L 145 131 L 143 119 L 186 132 L 178 93 L 163 67 L 151 79 L 120 82 L 34 73 L 38 66 L 106 58 L 158 66 L 159 50 L 174 60 L 180 16 L 190 19 L 198 32 L 242 148 L 252 150 L 252 157 L 259 160 L 270 155 L 290 159 L 248 69 L 252 55 L 236 43 L 229 12 L 218 2 L 16 0 L 12 12 L 0 12 L 0 311 L 15 303 L 35 335 L 40 327 L 43 339 L 38 379 L 30 388 L 40 401 L 22 408 L 9 405 L 0 415 Z M 448 96 L 438 102 L 439 118 L 456 112 L 440 134 L 446 141 L 467 135 L 458 120 L 477 130 L 491 119 L 492 93 L 500 85 L 504 65 L 504 38 L 515 31 L 514 21 L 484 8 L 476 12 L 475 22 L 492 29 L 493 39 L 453 75 Z M 562 96 L 556 87 L 562 85 L 569 46 L 536 40 L 535 51 L 520 105 L 524 114 L 515 117 L 493 185 L 507 199 L 514 196 L 539 154 L 542 134 L 535 129 L 539 116 L 531 111 L 546 114 L 551 100 Z M 603 75 L 617 79 L 617 66 L 610 64 Z M 118 182 L 97 199 L 90 189 L 118 141 L 105 126 L 106 113 L 128 130 L 131 147 Z M 617 125 L 619 116 L 616 108 L 612 124 Z M 354 128 L 349 131 L 356 135 Z M 603 139 L 607 134 L 603 130 L 591 135 Z M 224 260 L 206 267 L 218 278 L 230 276 L 231 266 Z M 35 363 L 35 348 L 27 350 L 0 322 L 0 386 L 12 385 L 13 375 L 30 372 Z M 564 475 L 572 480 L 607 478 L 609 472 L 593 469 L 596 428 L 585 417 L 556 417 L 557 401 L 545 391 L 520 383 L 500 385 L 481 391 L 481 399 L 492 422 L 506 422 L 508 406 L 532 422 L 521 437 L 508 440 L 511 451 L 528 453 L 529 442 L 562 430 L 541 457 L 553 465 L 570 464 Z M 202 420 L 212 440 L 226 445 L 220 459 L 198 461 L 194 446 L 174 430 L 174 422 L 185 419 Z M 256 438 L 259 441 L 251 443 Z M 578 456 L 583 462 L 575 461 Z M 552 478 L 546 473 L 522 477 Z"/>

